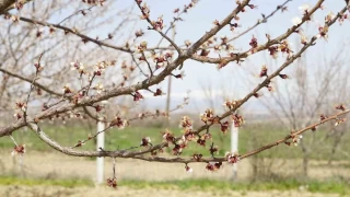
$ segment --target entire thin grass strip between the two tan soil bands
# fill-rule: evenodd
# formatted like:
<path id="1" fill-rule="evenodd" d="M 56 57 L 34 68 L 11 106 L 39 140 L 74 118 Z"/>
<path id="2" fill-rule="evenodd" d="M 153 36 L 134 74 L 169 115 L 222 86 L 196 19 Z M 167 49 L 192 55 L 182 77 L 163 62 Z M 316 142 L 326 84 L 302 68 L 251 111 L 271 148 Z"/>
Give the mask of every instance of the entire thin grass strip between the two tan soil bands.
<path id="1" fill-rule="evenodd" d="M 81 187 L 93 186 L 89 179 L 42 179 L 42 178 L 19 178 L 11 176 L 0 176 L 0 185 L 25 185 L 25 186 L 62 186 L 62 187 Z M 119 186 L 133 189 L 159 188 L 159 189 L 180 189 L 180 190 L 298 190 L 302 187 L 311 193 L 324 194 L 350 194 L 350 184 L 346 181 L 279 181 L 279 182 L 223 182 L 218 179 L 183 179 L 166 182 L 147 182 L 136 179 L 122 179 Z"/>

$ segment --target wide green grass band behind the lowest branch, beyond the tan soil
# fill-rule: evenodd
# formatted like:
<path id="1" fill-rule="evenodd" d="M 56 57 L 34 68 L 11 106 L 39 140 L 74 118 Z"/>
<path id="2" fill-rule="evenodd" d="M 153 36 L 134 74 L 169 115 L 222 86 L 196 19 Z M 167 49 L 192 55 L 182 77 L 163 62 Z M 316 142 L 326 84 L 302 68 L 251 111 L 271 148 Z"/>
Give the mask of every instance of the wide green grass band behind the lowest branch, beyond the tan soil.
<path id="1" fill-rule="evenodd" d="M 83 140 L 88 137 L 89 134 L 95 132 L 95 127 L 82 127 L 70 125 L 43 125 L 42 126 L 45 132 L 50 136 L 52 139 L 57 140 L 63 146 L 73 146 L 78 140 Z M 313 140 L 323 140 L 322 146 L 314 146 L 311 152 L 311 159 L 314 160 L 328 160 L 332 157 L 332 160 L 343 160 L 345 155 L 339 151 L 336 154 L 331 153 L 331 146 L 334 143 L 332 138 L 326 138 L 327 131 L 322 130 L 319 128 L 316 132 L 307 132 L 304 135 L 305 144 L 310 144 Z M 150 128 L 150 127 L 127 127 L 126 129 L 110 129 L 106 131 L 106 150 L 117 150 L 117 149 L 127 149 L 130 147 L 138 146 L 142 137 L 151 137 L 153 143 L 158 143 L 162 141 L 161 131 L 164 128 Z M 176 136 L 179 136 L 182 131 L 178 128 L 171 129 Z M 277 139 L 285 137 L 290 130 L 271 126 L 270 124 L 250 124 L 240 129 L 240 153 L 244 153 L 248 150 L 258 148 L 262 144 L 272 142 Z M 219 146 L 220 152 L 219 155 L 224 155 L 225 151 L 230 150 L 230 132 L 228 135 L 223 135 L 219 128 L 213 127 L 211 129 L 211 134 L 213 137 L 214 144 Z M 14 139 L 18 143 L 24 143 L 27 146 L 27 150 L 39 150 L 39 151 L 52 151 L 50 147 L 45 144 L 40 139 L 38 139 L 33 132 L 30 130 L 20 130 L 13 134 Z M 350 134 L 346 132 L 342 137 L 342 142 L 340 142 L 337 149 L 340 150 L 350 150 L 350 143 L 347 141 L 350 140 Z M 211 141 L 207 142 L 206 148 L 198 146 L 196 142 L 192 142 L 188 148 L 183 152 L 184 155 L 191 155 L 194 153 L 202 153 L 203 155 L 209 154 L 209 147 Z M 13 147 L 13 142 L 10 138 L 0 138 L 0 149 L 11 149 Z M 94 150 L 95 143 L 94 141 L 86 142 L 82 148 L 83 150 Z M 55 151 L 55 150 L 54 150 Z M 171 149 L 166 150 L 171 152 Z M 288 147 L 284 144 L 280 144 L 279 148 L 271 149 L 269 151 L 265 151 L 259 154 L 261 158 L 288 158 L 288 159 L 300 159 L 302 158 L 302 150 L 300 147 Z"/>

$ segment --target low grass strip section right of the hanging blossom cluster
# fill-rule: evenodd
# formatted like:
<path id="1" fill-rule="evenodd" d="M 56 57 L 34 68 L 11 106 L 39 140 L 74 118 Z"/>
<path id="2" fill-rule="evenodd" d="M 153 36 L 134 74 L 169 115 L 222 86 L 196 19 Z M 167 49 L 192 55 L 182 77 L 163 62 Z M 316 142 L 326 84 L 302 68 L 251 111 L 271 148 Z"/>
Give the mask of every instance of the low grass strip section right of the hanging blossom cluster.
<path id="1" fill-rule="evenodd" d="M 137 189 L 167 188 L 167 189 L 199 189 L 199 190 L 298 190 L 302 187 L 311 193 L 350 194 L 350 184 L 343 181 L 279 181 L 279 182 L 223 182 L 215 179 L 184 179 L 167 182 L 122 181 L 120 185 Z"/>

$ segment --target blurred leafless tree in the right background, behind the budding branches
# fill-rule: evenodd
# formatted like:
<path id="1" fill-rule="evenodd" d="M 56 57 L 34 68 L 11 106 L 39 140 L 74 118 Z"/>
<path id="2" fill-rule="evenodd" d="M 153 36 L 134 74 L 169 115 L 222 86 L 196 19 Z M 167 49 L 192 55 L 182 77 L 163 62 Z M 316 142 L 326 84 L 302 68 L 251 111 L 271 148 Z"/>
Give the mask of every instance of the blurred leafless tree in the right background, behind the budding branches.
<path id="1" fill-rule="evenodd" d="M 339 90 L 349 89 L 347 78 L 349 76 L 349 61 L 346 54 L 343 54 L 347 45 L 334 51 L 330 59 L 324 57 L 313 62 L 307 61 L 308 54 L 303 54 L 303 58 L 299 59 L 289 77 L 290 83 L 276 85 L 273 94 L 261 99 L 261 103 L 269 109 L 269 112 L 278 119 L 284 127 L 295 130 L 298 126 L 306 126 L 315 121 L 315 117 L 327 111 L 329 105 L 337 103 L 347 103 L 349 94 L 347 91 L 339 93 Z M 273 61 L 267 65 L 270 68 L 277 67 Z M 283 94 L 284 92 L 284 94 Z M 346 126 L 343 124 L 342 126 Z M 329 127 L 334 131 L 328 132 L 329 136 L 335 137 L 332 151 L 341 141 L 341 136 L 346 129 L 343 127 Z M 339 132 L 335 132 L 339 130 Z M 341 130 L 341 131 L 340 131 Z M 303 152 L 303 174 L 307 175 L 307 166 L 310 154 L 316 146 L 323 144 L 324 139 L 317 139 L 313 132 L 312 140 L 301 141 L 301 149 Z"/>

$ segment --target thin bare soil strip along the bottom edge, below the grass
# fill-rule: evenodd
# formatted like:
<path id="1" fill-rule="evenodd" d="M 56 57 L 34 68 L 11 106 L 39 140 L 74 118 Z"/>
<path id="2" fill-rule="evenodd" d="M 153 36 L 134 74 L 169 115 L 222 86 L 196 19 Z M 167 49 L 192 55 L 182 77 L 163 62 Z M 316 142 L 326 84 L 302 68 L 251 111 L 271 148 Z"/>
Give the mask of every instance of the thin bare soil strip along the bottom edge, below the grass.
<path id="1" fill-rule="evenodd" d="M 219 196 L 246 196 L 246 197 L 337 197 L 339 195 L 330 194 L 315 194 L 307 192 L 200 192 L 200 190 L 178 190 L 178 189 L 131 189 L 128 187 L 118 187 L 117 190 L 109 187 L 77 187 L 77 188 L 65 188 L 58 186 L 0 186 L 0 196 L 3 197 L 180 197 L 180 196 L 190 196 L 190 197 L 219 197 Z"/>

